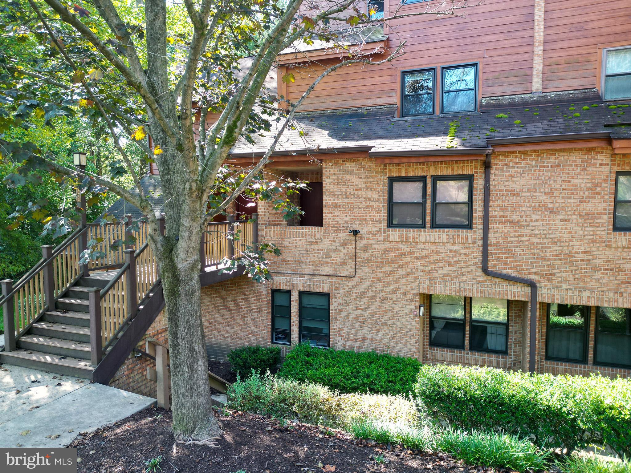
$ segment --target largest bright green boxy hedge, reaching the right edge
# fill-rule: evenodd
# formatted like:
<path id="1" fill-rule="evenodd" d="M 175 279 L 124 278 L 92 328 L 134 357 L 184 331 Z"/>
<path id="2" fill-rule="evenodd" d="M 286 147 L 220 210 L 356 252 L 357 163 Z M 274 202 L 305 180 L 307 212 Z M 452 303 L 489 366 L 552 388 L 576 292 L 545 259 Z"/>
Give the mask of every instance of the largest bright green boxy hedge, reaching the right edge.
<path id="1" fill-rule="evenodd" d="M 416 396 L 430 414 L 467 430 L 505 431 L 568 452 L 591 443 L 631 450 L 631 380 L 433 365 L 422 366 Z"/>

